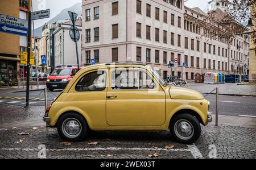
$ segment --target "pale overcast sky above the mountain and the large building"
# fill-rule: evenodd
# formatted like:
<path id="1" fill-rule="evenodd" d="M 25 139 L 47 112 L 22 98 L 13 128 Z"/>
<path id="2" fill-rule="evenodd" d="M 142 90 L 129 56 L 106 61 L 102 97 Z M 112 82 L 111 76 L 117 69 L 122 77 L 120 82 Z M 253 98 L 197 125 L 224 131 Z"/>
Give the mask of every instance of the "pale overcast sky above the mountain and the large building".
<path id="1" fill-rule="evenodd" d="M 2 0 L 1 0 L 2 1 Z M 61 10 L 71 7 L 75 3 L 82 2 L 82 0 L 32 0 L 33 10 L 50 9 L 50 18 L 35 20 L 35 28 L 42 26 L 48 20 L 54 18 Z M 185 5 L 188 7 L 200 7 L 201 10 L 207 8 L 209 0 L 188 0 Z"/>

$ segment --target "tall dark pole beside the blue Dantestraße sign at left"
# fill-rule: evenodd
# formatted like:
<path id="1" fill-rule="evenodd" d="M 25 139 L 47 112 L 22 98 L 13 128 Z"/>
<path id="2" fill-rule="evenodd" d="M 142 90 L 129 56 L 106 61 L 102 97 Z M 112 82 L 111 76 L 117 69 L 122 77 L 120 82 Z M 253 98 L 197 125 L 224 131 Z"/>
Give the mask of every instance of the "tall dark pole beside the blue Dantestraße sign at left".
<path id="1" fill-rule="evenodd" d="M 28 13 L 28 38 L 27 38 L 27 90 L 26 107 L 30 105 L 30 47 L 31 47 L 31 11 Z"/>

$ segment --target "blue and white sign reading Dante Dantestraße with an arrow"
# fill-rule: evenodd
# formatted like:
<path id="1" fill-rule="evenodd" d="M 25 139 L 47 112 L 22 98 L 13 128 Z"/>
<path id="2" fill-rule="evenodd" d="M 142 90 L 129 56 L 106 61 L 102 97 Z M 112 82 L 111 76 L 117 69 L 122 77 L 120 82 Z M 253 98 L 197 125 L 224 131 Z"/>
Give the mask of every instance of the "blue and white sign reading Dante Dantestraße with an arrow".
<path id="1" fill-rule="evenodd" d="M 8 15 L 0 15 L 0 32 L 28 36 L 28 21 Z"/>

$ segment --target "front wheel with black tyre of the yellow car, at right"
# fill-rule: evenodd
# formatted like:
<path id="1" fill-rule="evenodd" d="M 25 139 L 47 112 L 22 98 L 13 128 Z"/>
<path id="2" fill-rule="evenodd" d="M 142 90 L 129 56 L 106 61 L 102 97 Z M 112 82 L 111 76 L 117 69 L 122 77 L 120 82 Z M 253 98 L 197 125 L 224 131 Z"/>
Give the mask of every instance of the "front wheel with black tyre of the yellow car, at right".
<path id="1" fill-rule="evenodd" d="M 200 137 L 200 122 L 191 114 L 179 114 L 172 118 L 170 123 L 170 132 L 172 139 L 176 142 L 192 144 Z"/>

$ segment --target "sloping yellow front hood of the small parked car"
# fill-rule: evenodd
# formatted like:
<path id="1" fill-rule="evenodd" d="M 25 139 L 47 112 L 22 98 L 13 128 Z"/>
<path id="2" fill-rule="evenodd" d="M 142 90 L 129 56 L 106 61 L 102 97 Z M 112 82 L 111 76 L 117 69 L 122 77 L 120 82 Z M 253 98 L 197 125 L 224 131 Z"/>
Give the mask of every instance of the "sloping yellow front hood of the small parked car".
<path id="1" fill-rule="evenodd" d="M 171 86 L 169 90 L 172 99 L 204 99 L 204 96 L 195 90 Z"/>

